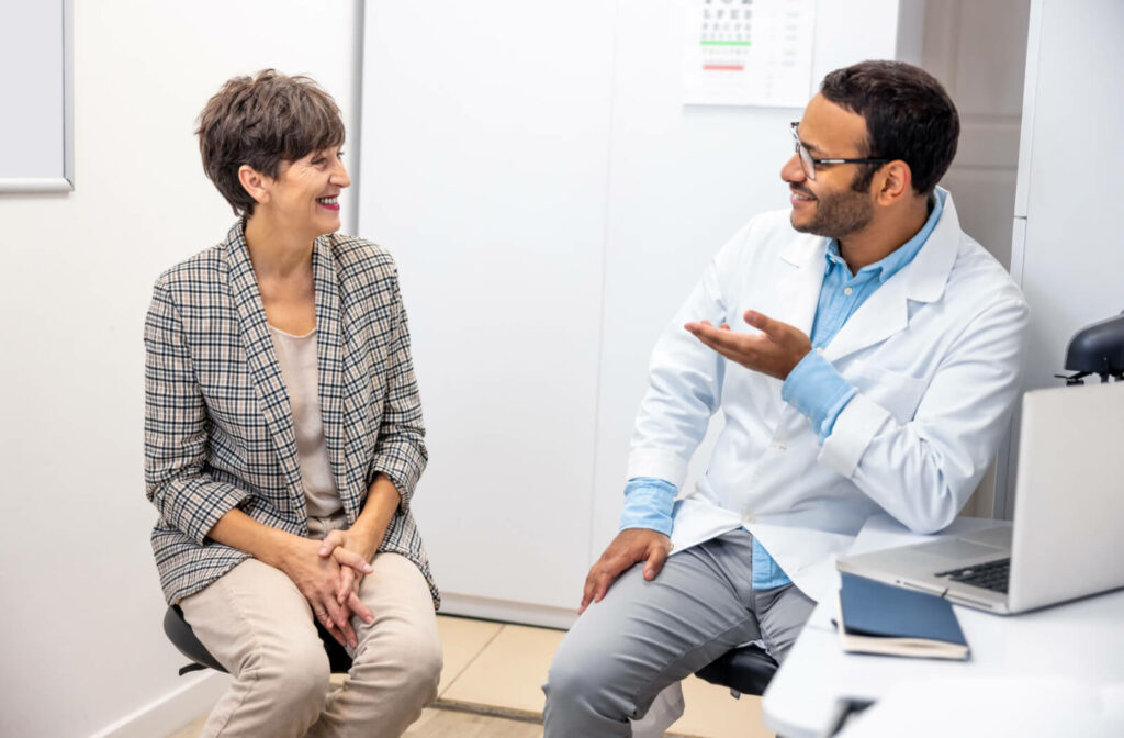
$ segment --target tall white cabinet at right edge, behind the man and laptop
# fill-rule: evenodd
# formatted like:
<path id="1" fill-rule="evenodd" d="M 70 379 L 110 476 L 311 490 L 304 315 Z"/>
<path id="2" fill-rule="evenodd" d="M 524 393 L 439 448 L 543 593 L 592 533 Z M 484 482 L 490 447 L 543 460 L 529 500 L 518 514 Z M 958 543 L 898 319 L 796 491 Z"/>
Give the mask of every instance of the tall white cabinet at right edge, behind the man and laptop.
<path id="1" fill-rule="evenodd" d="M 1012 272 L 1031 306 L 1027 389 L 1057 387 L 1078 330 L 1124 309 L 1124 3 L 1034 0 Z M 1017 441 L 1017 428 L 1012 434 Z M 1015 460 L 1006 513 L 1014 513 Z"/>

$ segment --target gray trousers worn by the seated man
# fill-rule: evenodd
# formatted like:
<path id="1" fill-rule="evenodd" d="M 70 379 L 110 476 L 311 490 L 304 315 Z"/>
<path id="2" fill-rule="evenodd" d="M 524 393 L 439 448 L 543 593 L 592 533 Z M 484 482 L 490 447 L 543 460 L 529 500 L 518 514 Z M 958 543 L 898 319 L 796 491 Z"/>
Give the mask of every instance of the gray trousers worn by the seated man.
<path id="1" fill-rule="evenodd" d="M 554 654 L 544 738 L 632 736 L 665 686 L 741 644 L 783 659 L 815 602 L 791 584 L 753 590 L 752 556 L 736 530 L 669 557 L 652 582 L 640 565 L 622 574 Z"/>

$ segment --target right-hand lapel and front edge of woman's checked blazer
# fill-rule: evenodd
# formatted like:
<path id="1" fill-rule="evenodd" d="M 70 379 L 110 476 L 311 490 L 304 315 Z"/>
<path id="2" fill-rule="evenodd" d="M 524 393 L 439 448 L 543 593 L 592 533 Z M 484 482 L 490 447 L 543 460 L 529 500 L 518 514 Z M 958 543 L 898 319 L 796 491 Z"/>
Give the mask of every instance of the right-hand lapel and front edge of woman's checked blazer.
<path id="1" fill-rule="evenodd" d="M 329 238 L 317 238 L 312 246 L 312 287 L 316 291 L 316 370 L 319 380 L 320 418 L 328 460 L 336 480 L 336 489 L 350 505 L 347 476 L 347 444 L 344 442 L 344 367 L 339 346 L 342 310 L 339 282 Z M 348 515 L 357 511 L 348 508 Z M 354 518 L 352 518 L 354 520 Z"/>

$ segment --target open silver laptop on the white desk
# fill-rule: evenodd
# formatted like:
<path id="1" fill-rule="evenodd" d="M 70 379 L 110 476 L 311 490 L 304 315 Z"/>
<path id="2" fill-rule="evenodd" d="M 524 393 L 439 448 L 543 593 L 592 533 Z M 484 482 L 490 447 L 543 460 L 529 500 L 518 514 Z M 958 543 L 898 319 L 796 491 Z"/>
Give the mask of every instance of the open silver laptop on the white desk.
<path id="1" fill-rule="evenodd" d="M 1014 525 L 839 569 L 1003 614 L 1124 587 L 1124 381 L 1026 393 L 1015 489 Z"/>

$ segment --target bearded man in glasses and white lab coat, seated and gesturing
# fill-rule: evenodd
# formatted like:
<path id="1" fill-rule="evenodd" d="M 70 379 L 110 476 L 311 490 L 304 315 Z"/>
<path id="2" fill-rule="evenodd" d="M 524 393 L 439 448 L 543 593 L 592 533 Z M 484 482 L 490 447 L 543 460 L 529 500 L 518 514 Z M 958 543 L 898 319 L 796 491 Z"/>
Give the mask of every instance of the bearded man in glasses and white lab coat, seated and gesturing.
<path id="1" fill-rule="evenodd" d="M 897 62 L 832 72 L 794 124 L 791 210 L 750 220 L 655 346 L 546 738 L 629 736 L 741 644 L 783 659 L 870 515 L 931 532 L 967 502 L 1018 394 L 1027 307 L 936 187 L 959 132 L 940 83 Z M 673 503 L 718 410 L 707 472 Z"/>

